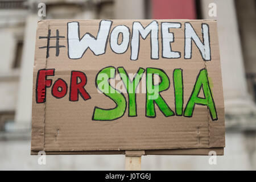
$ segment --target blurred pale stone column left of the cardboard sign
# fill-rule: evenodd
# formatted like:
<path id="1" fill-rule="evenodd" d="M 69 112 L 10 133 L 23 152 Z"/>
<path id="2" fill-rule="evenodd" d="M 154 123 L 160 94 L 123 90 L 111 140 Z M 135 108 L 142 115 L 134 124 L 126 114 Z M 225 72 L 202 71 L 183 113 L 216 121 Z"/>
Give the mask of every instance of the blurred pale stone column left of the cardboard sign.
<path id="1" fill-rule="evenodd" d="M 26 20 L 19 88 L 17 90 L 18 102 L 15 113 L 15 128 L 17 129 L 31 127 L 32 75 L 38 20 L 39 16 L 37 14 L 28 15 Z"/>

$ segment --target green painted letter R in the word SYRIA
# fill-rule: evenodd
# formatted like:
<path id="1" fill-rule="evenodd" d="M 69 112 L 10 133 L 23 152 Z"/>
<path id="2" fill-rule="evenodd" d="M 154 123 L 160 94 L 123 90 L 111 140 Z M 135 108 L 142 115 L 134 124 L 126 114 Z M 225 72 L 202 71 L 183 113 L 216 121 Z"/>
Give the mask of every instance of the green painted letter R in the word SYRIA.
<path id="1" fill-rule="evenodd" d="M 157 74 L 162 82 L 154 85 L 153 75 Z M 174 112 L 166 104 L 160 96 L 160 92 L 167 90 L 170 86 L 170 80 L 162 69 L 147 68 L 147 94 L 146 94 L 146 117 L 155 118 L 155 104 L 158 105 L 160 111 L 166 116 L 174 115 Z"/>

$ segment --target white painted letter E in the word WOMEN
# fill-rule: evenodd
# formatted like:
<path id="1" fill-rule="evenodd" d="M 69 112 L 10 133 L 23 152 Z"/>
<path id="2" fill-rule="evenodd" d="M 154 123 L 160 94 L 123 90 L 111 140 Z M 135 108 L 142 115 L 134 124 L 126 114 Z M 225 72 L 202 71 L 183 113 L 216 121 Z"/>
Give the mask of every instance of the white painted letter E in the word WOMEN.
<path id="1" fill-rule="evenodd" d="M 180 23 L 161 23 L 162 25 L 162 56 L 166 58 L 180 58 L 180 52 L 172 51 L 171 42 L 174 42 L 174 33 L 169 28 L 180 28 Z"/>

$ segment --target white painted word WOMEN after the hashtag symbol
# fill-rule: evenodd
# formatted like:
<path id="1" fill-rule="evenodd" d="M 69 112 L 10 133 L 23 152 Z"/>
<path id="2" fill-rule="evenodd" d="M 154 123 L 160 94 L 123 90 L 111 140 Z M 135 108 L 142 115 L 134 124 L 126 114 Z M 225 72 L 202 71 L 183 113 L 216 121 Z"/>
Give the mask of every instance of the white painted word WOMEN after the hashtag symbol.
<path id="1" fill-rule="evenodd" d="M 125 25 L 118 25 L 113 28 L 111 20 L 101 20 L 97 37 L 86 33 L 81 37 L 79 22 L 68 22 L 68 57 L 69 59 L 81 59 L 86 50 L 89 48 L 94 55 L 99 56 L 106 52 L 108 39 L 110 48 L 117 54 L 125 53 L 130 45 L 130 60 L 138 60 L 140 49 L 140 36 L 146 39 L 150 35 L 151 59 L 159 59 L 159 39 L 162 42 L 162 57 L 166 59 L 179 59 L 181 53 L 171 48 L 174 43 L 174 33 L 170 32 L 172 28 L 181 28 L 179 22 L 162 22 L 159 24 L 153 20 L 146 27 L 140 22 L 133 22 L 132 31 Z M 192 57 L 192 40 L 199 49 L 202 58 L 205 61 L 211 60 L 210 55 L 210 35 L 209 26 L 206 23 L 201 24 L 203 42 L 201 42 L 191 23 L 184 23 L 184 59 Z M 159 38 L 160 31 L 160 38 Z M 132 32 L 132 33 L 131 33 Z M 119 35 L 122 35 L 121 43 L 118 42 Z"/>

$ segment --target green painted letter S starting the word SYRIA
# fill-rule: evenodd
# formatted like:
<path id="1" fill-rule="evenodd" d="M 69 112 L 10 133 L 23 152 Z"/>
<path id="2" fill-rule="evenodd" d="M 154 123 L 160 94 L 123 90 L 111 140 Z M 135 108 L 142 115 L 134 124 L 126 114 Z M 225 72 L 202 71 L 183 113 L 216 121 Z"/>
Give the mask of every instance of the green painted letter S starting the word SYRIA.
<path id="1" fill-rule="evenodd" d="M 105 77 L 107 79 L 105 79 Z M 110 121 L 114 119 L 121 118 L 123 114 L 125 114 L 126 110 L 126 100 L 125 96 L 119 90 L 115 90 L 112 86 L 109 85 L 109 79 L 115 77 L 115 68 L 114 67 L 106 67 L 98 72 L 96 76 L 96 86 L 101 92 L 104 93 L 105 96 L 112 99 L 117 106 L 113 109 L 101 109 L 99 107 L 94 107 L 93 112 L 93 120 L 100 121 Z M 108 88 L 99 88 L 98 85 L 101 82 L 104 82 L 103 85 L 107 85 Z"/>

